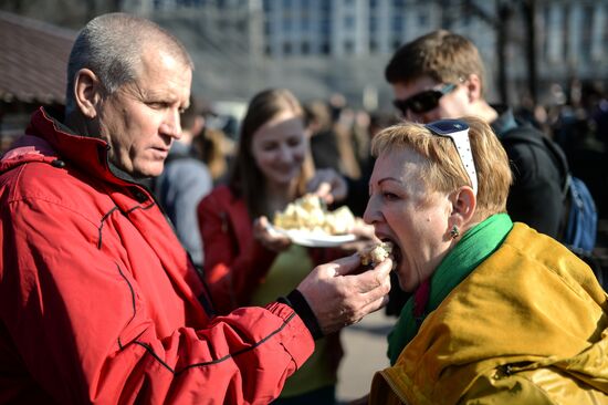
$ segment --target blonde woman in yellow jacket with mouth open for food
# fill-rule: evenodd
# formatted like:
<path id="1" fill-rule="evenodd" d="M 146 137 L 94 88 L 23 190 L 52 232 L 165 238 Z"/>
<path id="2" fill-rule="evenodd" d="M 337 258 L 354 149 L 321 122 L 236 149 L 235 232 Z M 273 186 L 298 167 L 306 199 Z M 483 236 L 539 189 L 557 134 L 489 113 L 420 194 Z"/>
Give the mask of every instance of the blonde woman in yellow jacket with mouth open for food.
<path id="1" fill-rule="evenodd" d="M 606 292 L 567 248 L 511 221 L 490 126 L 396 125 L 373 153 L 364 219 L 413 294 L 369 403 L 608 403 Z"/>

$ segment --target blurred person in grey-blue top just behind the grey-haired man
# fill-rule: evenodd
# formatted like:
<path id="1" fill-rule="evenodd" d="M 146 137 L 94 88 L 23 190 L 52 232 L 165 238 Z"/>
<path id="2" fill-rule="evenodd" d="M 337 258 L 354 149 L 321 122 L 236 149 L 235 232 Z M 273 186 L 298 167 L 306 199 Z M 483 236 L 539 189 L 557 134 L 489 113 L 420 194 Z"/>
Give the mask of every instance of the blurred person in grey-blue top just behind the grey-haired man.
<path id="1" fill-rule="evenodd" d="M 197 206 L 213 187 L 213 179 L 195 139 L 203 136 L 205 114 L 201 103 L 190 97 L 180 115 L 181 136 L 171 145 L 163 174 L 154 180 L 158 202 L 175 226 L 177 237 L 197 267 L 203 263 L 202 242 L 197 221 Z"/>

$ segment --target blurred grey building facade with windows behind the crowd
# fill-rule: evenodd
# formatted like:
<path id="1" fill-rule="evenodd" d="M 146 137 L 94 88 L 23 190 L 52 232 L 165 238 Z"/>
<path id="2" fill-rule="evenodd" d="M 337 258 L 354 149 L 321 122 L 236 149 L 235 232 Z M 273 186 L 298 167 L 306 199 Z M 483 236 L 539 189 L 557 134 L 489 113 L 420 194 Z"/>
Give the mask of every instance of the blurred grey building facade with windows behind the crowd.
<path id="1" fill-rule="evenodd" d="M 80 10 L 81 25 L 92 13 L 113 10 L 154 19 L 187 44 L 198 66 L 195 90 L 209 98 L 247 100 L 262 87 L 286 86 L 302 98 L 339 92 L 354 105 L 366 104 L 367 95 L 378 103 L 365 106 L 388 106 L 390 93 L 384 81 L 388 59 L 400 44 L 438 28 L 464 34 L 480 48 L 489 68 L 491 101 L 517 104 L 534 87 L 539 102 L 552 102 L 554 84 L 567 86 L 573 79 L 604 85 L 608 81 L 608 0 L 92 0 L 86 8 L 75 0 L 29 0 L 14 4 L 18 9 L 8 11 L 57 24 L 65 20 L 65 9 Z M 46 10 L 44 15 L 40 10 Z M 53 15 L 51 10 L 59 11 Z M 526 21 L 533 21 L 534 31 Z M 78 28 L 74 21 L 70 27 Z M 501 29 L 504 42 L 499 41 Z M 496 85 L 501 77 L 505 91 Z"/>

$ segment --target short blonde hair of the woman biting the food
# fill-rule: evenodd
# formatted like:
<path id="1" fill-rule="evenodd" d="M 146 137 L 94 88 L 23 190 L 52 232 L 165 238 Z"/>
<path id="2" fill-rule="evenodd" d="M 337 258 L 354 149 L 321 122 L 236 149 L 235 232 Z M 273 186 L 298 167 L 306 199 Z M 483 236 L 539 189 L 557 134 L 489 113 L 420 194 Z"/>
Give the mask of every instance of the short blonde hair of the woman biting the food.
<path id="1" fill-rule="evenodd" d="M 506 197 L 512 174 L 506 152 L 486 123 L 464 117 L 469 124 L 469 139 L 478 175 L 478 205 L 475 218 L 506 211 Z M 451 193 L 471 180 L 453 141 L 431 133 L 423 124 L 405 123 L 390 126 L 376 135 L 371 154 L 376 157 L 387 150 L 411 148 L 426 158 L 420 167 L 420 179 L 429 190 Z"/>

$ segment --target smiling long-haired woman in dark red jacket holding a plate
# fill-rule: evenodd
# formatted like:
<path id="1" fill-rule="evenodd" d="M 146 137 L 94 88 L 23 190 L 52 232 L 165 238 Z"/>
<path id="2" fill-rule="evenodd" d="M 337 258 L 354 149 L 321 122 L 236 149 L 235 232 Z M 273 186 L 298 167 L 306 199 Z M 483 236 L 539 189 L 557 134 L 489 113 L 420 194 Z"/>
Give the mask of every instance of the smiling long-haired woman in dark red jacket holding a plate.
<path id="1" fill-rule="evenodd" d="M 284 89 L 258 93 L 241 124 L 228 185 L 213 189 L 198 208 L 205 278 L 222 313 L 265 304 L 293 290 L 315 264 L 344 256 L 292 243 L 266 227 L 275 211 L 306 193 L 314 172 L 298 101 Z M 346 193 L 342 187 L 334 189 Z M 286 381 L 275 403 L 334 404 L 342 354 L 338 334 L 317 340 L 313 356 Z"/>

